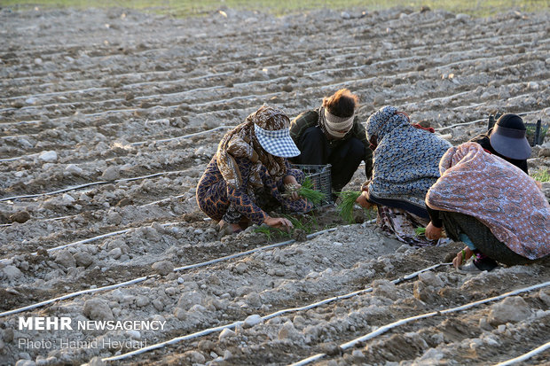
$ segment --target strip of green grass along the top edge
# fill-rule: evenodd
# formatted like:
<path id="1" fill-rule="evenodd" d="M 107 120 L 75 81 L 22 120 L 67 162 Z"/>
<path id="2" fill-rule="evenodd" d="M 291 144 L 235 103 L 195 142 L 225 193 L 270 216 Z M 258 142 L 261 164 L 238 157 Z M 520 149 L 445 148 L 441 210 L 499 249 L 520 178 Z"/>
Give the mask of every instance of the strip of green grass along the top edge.
<path id="1" fill-rule="evenodd" d="M 507 11 L 520 12 L 538 12 L 550 9 L 549 0 L 201 0 L 201 1 L 177 1 L 177 0 L 2 0 L 0 6 L 10 7 L 12 10 L 27 10 L 33 8 L 52 8 L 52 7 L 117 7 L 137 9 L 145 12 L 158 12 L 169 14 L 174 17 L 203 16 L 212 12 L 231 8 L 234 10 L 248 10 L 271 12 L 277 15 L 307 12 L 314 9 L 333 9 L 350 10 L 357 9 L 363 12 L 373 12 L 391 7 L 409 7 L 421 9 L 429 7 L 430 9 L 444 9 L 451 12 L 464 12 L 474 16 L 488 16 L 494 13 Z"/>

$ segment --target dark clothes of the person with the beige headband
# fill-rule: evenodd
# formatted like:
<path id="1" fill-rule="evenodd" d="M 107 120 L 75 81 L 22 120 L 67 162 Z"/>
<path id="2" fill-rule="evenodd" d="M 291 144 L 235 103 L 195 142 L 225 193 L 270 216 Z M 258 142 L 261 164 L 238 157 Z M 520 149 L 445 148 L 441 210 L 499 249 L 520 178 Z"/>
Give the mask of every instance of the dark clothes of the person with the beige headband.
<path id="1" fill-rule="evenodd" d="M 328 141 L 319 127 L 307 128 L 296 144 L 300 152 L 293 162 L 297 164 L 330 164 L 333 191 L 342 191 L 365 159 L 365 145 L 356 137 L 342 142 Z"/>

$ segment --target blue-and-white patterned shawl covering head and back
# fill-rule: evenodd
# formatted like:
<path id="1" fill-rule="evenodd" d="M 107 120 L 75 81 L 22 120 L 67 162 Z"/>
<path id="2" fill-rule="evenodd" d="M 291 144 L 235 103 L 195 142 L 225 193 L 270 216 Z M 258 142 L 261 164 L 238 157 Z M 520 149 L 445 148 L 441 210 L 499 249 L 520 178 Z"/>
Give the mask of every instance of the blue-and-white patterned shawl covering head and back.
<path id="1" fill-rule="evenodd" d="M 424 209 L 426 192 L 439 177 L 439 160 L 451 144 L 414 128 L 408 116 L 393 106 L 385 106 L 369 117 L 366 137 L 377 141 L 369 196 L 403 200 Z"/>

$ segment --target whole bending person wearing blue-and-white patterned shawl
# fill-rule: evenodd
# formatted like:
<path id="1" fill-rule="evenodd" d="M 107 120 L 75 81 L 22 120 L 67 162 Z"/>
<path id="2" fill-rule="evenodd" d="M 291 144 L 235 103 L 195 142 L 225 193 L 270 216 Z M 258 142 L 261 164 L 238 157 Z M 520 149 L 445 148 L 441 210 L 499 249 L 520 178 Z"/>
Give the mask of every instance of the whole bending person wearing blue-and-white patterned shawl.
<path id="1" fill-rule="evenodd" d="M 426 192 L 436 183 L 439 160 L 451 147 L 433 132 L 411 124 L 409 116 L 393 106 L 382 107 L 366 121 L 373 179 L 363 184 L 357 202 L 376 205 L 381 228 L 409 245 L 435 244 L 415 233 L 429 222 Z"/>

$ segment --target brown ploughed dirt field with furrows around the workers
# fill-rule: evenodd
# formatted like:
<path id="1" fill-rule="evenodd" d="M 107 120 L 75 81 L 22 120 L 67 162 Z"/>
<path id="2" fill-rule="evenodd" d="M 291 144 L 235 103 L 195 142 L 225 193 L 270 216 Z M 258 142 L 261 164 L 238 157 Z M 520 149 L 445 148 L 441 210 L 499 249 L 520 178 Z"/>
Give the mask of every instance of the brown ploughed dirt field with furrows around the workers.
<path id="1" fill-rule="evenodd" d="M 549 122 L 549 13 L 4 8 L 0 33 L 0 364 L 486 365 L 550 339 L 547 265 L 468 276 L 442 265 L 396 284 L 462 245 L 402 245 L 334 207 L 309 220 L 335 230 L 305 241 L 223 236 L 194 198 L 220 127 L 263 103 L 294 117 L 347 87 L 364 121 L 397 105 L 453 144 L 490 113 Z M 533 148 L 530 172 L 550 167 L 549 149 Z M 344 345 L 415 315 L 427 317 Z M 33 316 L 163 326 L 21 329 Z"/>

